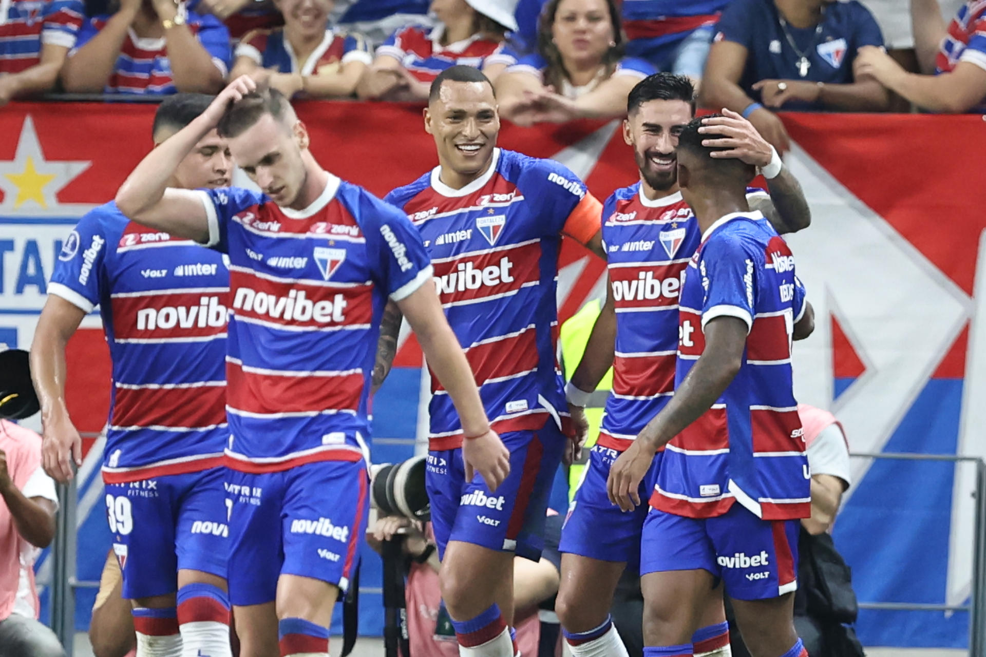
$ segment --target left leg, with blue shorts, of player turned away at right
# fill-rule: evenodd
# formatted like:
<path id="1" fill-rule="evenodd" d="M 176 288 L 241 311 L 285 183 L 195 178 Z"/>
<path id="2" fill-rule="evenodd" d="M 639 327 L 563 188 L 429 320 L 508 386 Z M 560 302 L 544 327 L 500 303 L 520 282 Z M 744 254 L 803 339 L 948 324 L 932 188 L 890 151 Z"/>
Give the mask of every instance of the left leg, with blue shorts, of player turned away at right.
<path id="1" fill-rule="evenodd" d="M 646 657 L 691 655 L 716 585 L 716 555 L 705 520 L 652 509 L 641 538 Z"/>

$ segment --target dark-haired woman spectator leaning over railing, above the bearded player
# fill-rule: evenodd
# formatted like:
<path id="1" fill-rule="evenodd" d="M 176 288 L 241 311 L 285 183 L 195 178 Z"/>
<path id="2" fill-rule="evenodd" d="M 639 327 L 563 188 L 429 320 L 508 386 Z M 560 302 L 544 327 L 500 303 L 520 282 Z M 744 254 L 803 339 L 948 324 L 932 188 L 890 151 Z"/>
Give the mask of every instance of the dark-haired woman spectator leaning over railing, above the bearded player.
<path id="1" fill-rule="evenodd" d="M 624 58 L 624 40 L 614 0 L 550 0 L 537 52 L 496 83 L 500 115 L 520 125 L 625 115 L 630 90 L 655 70 Z"/>

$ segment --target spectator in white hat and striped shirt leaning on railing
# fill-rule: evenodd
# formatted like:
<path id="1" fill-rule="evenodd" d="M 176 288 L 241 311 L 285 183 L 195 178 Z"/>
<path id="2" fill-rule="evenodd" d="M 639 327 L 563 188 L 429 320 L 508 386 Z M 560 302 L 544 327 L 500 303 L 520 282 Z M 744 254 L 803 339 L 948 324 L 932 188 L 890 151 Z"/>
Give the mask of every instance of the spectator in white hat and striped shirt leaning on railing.
<path id="1" fill-rule="evenodd" d="M 393 33 L 377 48 L 357 93 L 363 99 L 423 102 L 438 74 L 457 64 L 495 80 L 517 61 L 505 40 L 517 30 L 516 6 L 517 0 L 432 0 L 438 25 Z"/>

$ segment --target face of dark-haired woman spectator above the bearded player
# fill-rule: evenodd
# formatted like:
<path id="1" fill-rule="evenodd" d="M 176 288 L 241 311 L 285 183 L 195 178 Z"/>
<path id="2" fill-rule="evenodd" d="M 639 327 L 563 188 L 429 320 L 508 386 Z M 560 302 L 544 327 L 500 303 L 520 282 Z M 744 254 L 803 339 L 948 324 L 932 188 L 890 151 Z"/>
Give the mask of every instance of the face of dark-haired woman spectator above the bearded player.
<path id="1" fill-rule="evenodd" d="M 613 40 L 605 0 L 561 0 L 551 35 L 566 61 L 601 62 Z"/>

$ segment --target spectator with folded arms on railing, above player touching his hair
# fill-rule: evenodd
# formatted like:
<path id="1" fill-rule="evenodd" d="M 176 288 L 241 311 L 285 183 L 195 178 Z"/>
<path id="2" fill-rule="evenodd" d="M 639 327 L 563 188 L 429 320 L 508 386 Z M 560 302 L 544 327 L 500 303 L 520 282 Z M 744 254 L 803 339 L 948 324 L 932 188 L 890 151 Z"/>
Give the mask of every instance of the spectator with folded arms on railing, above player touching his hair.
<path id="1" fill-rule="evenodd" d="M 274 0 L 284 27 L 246 34 L 236 49 L 233 79 L 249 75 L 286 97 L 345 98 L 373 61 L 359 33 L 328 26 L 332 0 Z"/>

